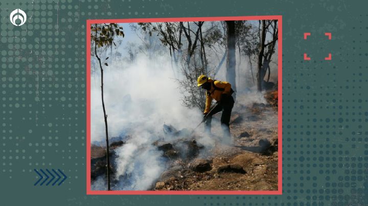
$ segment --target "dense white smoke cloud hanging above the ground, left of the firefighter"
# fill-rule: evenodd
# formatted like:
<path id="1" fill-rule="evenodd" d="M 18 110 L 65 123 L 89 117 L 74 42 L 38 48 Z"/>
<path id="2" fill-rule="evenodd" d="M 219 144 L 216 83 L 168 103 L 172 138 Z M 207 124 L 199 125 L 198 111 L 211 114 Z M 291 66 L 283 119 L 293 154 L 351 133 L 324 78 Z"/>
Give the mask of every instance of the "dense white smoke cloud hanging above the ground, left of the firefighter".
<path id="1" fill-rule="evenodd" d="M 100 85 L 96 72 L 91 76 L 91 141 L 105 138 Z M 104 70 L 109 137 L 134 130 L 160 133 L 165 122 L 178 130 L 194 127 L 201 112 L 181 105 L 178 87 L 166 57 L 140 56 L 135 64 L 113 62 Z"/>

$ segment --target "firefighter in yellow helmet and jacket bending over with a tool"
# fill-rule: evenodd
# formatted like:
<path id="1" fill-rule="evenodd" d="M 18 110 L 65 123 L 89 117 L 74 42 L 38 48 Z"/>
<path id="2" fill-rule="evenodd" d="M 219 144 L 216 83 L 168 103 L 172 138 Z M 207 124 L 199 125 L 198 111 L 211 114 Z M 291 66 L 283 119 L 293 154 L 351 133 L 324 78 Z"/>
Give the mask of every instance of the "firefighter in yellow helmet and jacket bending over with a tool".
<path id="1" fill-rule="evenodd" d="M 197 79 L 198 87 L 205 89 L 205 109 L 203 112 L 203 120 L 205 122 L 205 131 L 211 134 L 212 115 L 221 112 L 221 128 L 224 138 L 230 138 L 230 116 L 234 106 L 234 98 L 232 94 L 234 90 L 228 82 L 212 80 L 208 76 L 200 75 Z M 218 104 L 210 110 L 212 99 Z M 210 112 L 211 111 L 211 112 Z"/>

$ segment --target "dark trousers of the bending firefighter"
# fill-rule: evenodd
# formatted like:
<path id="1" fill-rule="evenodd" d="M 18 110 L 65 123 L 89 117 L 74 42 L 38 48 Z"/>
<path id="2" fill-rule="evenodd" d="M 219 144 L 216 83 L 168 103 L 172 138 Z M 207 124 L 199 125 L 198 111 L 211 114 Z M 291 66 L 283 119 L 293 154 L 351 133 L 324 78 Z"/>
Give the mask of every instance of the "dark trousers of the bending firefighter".
<path id="1" fill-rule="evenodd" d="M 221 112 L 221 128 L 223 131 L 224 137 L 230 137 L 230 116 L 231 112 L 234 107 L 234 98 L 230 96 L 227 101 L 219 102 L 215 106 L 215 108 L 209 113 L 207 119 L 205 120 L 205 130 L 208 133 L 211 133 L 211 122 L 212 122 L 212 115 Z"/>

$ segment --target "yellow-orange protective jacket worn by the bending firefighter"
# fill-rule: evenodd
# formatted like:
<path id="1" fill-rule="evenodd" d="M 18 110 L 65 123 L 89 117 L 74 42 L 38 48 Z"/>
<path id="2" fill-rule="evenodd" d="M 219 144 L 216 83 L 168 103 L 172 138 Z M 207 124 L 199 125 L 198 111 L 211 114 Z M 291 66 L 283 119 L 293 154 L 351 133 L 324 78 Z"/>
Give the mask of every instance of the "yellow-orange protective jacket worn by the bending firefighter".
<path id="1" fill-rule="evenodd" d="M 206 91 L 206 105 L 204 109 L 204 113 L 209 113 L 211 108 L 212 99 L 215 99 L 216 101 L 220 101 L 221 94 L 225 93 L 228 95 L 231 95 L 231 84 L 228 82 L 221 82 L 217 80 L 211 80 L 209 79 L 208 82 L 211 83 L 211 89 L 209 91 Z M 217 88 L 223 89 L 223 91 L 215 89 L 215 86 Z"/>

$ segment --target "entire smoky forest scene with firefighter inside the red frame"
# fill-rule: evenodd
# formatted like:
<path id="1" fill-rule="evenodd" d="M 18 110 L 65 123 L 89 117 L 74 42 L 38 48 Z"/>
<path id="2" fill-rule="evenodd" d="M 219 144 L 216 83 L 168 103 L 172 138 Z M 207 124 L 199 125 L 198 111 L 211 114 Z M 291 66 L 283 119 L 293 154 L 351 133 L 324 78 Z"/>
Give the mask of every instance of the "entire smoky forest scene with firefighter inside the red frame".
<path id="1" fill-rule="evenodd" d="M 91 24 L 91 189 L 278 190 L 278 37 L 278 20 Z"/>

